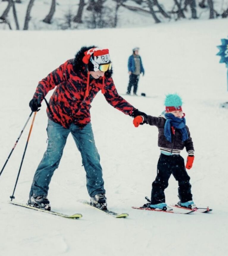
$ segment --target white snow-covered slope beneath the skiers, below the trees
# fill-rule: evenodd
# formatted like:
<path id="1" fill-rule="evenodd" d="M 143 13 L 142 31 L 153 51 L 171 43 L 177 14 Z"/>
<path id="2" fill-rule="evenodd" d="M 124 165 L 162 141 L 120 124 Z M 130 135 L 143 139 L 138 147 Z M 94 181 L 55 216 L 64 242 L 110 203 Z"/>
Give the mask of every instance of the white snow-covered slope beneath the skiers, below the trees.
<path id="1" fill-rule="evenodd" d="M 137 36 L 136 36 L 137 35 Z M 164 109 L 167 93 L 179 93 L 195 146 L 188 171 L 194 202 L 212 213 L 191 215 L 133 210 L 145 203 L 156 176 L 159 157 L 157 128 L 135 128 L 132 118 L 107 104 L 99 93 L 91 116 L 100 153 L 110 210 L 128 212 L 115 219 L 78 203 L 89 199 L 81 156 L 69 135 L 48 198 L 53 210 L 82 213 L 80 220 L 10 205 L 31 121 L 0 177 L 0 254 L 11 255 L 227 255 L 227 109 L 226 68 L 216 56 L 220 39 L 227 37 L 226 20 L 158 24 L 140 29 L 10 32 L 0 31 L 0 166 L 2 167 L 30 109 L 37 82 L 82 45 L 110 49 L 114 82 L 119 93 L 128 84 L 127 60 L 140 47 L 145 76 L 139 93 L 125 96 L 150 115 Z M 50 97 L 51 92 L 47 95 Z M 34 171 L 46 148 L 45 102 L 37 113 L 23 162 L 15 201 L 26 203 Z M 187 154 L 183 151 L 182 156 Z M 170 178 L 167 203 L 177 202 L 177 182 Z"/>

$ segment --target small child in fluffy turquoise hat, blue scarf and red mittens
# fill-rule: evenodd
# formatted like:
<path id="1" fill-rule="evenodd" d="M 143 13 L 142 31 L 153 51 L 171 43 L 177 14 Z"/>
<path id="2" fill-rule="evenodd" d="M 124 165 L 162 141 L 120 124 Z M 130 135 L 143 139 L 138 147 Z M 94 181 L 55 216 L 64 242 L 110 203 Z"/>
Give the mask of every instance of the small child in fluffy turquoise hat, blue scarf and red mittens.
<path id="1" fill-rule="evenodd" d="M 180 151 L 186 147 L 188 152 L 186 168 L 191 169 L 194 161 L 194 147 L 188 127 L 185 125 L 185 114 L 182 112 L 182 100 L 177 94 L 169 94 L 165 99 L 166 110 L 159 117 L 147 115 L 136 116 L 135 127 L 139 124 L 150 124 L 158 127 L 158 146 L 161 155 L 158 160 L 157 177 L 152 183 L 151 202 L 144 205 L 154 209 L 167 210 L 164 190 L 168 187 L 171 174 L 178 181 L 179 206 L 196 208 L 192 201 L 190 177 Z M 169 209 L 171 210 L 171 209 Z"/>

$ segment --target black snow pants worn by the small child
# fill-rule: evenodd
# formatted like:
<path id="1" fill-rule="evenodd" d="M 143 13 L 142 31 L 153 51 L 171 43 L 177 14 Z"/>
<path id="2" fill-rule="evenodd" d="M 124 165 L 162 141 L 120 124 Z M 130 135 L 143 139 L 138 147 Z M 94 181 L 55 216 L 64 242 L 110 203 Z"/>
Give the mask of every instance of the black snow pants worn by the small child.
<path id="1" fill-rule="evenodd" d="M 157 177 L 152 183 L 151 204 L 156 205 L 165 202 L 164 190 L 168 187 L 169 178 L 173 174 L 178 181 L 178 196 L 180 202 L 192 200 L 190 177 L 185 169 L 183 157 L 180 155 L 167 156 L 161 154 L 158 160 Z"/>

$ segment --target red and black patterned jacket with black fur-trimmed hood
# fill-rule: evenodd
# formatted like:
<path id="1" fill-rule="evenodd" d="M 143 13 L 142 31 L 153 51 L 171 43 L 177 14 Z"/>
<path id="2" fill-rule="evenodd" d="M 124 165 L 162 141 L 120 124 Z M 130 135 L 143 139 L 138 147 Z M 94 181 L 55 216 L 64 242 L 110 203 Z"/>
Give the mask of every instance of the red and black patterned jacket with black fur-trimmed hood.
<path id="1" fill-rule="evenodd" d="M 90 122 L 90 104 L 102 88 L 103 79 L 94 79 L 90 76 L 89 96 L 85 97 L 87 71 L 85 64 L 81 60 L 84 56 L 84 51 L 93 47 L 82 47 L 76 54 L 75 59 L 67 60 L 59 68 L 48 74 L 47 77 L 39 82 L 33 96 L 33 98 L 38 98 L 40 95 L 41 100 L 43 100 L 48 91 L 55 88 L 49 100 L 53 115 L 51 115 L 48 108 L 47 114 L 48 118 L 65 128 L 69 128 L 71 123 L 83 128 Z M 112 70 L 105 72 L 105 99 L 113 107 L 131 116 L 135 108 L 119 96 L 111 75 Z"/>

